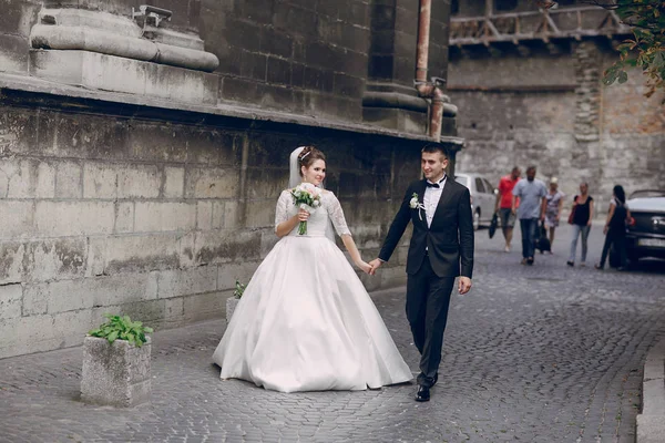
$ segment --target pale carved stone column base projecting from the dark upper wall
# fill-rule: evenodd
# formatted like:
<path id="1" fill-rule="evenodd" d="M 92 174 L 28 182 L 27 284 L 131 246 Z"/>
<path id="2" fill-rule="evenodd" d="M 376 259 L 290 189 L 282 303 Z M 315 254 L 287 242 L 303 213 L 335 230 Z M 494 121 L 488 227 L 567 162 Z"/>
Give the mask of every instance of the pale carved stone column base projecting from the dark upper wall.
<path id="1" fill-rule="evenodd" d="M 219 61 L 194 32 L 140 27 L 101 10 L 42 8 L 30 74 L 89 90 L 215 105 Z"/>

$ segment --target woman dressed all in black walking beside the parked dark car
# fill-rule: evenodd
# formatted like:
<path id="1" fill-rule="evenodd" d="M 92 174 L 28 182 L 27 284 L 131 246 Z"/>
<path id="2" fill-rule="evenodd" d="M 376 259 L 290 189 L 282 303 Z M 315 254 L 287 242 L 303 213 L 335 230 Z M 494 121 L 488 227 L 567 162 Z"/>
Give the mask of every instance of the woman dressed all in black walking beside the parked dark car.
<path id="1" fill-rule="evenodd" d="M 595 266 L 596 269 L 605 267 L 605 259 L 611 248 L 614 248 L 620 256 L 621 261 L 617 269 L 624 270 L 626 268 L 628 261 L 626 254 L 626 223 L 628 218 L 631 218 L 631 210 L 628 205 L 626 205 L 626 193 L 623 186 L 616 185 L 612 193 L 612 200 L 610 202 L 610 209 L 607 210 L 607 218 L 603 228 L 605 244 L 603 245 L 601 261 Z"/>

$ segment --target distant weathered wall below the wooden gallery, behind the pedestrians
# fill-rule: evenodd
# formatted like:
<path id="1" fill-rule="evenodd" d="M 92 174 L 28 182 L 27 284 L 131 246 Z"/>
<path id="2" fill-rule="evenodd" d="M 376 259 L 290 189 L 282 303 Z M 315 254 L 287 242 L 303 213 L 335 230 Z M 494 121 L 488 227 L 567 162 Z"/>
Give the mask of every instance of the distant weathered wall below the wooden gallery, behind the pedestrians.
<path id="1" fill-rule="evenodd" d="M 458 171 L 498 183 L 513 165 L 535 164 L 541 179 L 559 177 L 569 196 L 589 182 L 600 213 L 615 184 L 628 194 L 665 187 L 663 95 L 645 99 L 638 71 L 604 86 L 616 53 L 594 40 L 519 50 L 464 49 L 451 59 L 449 94 L 467 140 Z"/>

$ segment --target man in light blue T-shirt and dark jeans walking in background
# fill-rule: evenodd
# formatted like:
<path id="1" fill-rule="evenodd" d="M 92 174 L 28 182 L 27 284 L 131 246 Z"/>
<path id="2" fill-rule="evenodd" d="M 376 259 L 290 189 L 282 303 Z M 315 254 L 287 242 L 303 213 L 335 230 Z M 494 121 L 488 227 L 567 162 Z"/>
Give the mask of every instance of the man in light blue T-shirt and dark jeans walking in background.
<path id="1" fill-rule="evenodd" d="M 533 265 L 538 222 L 545 219 L 545 184 L 535 178 L 535 166 L 526 168 L 526 179 L 522 178 L 513 188 L 512 213 L 520 219 L 522 230 L 522 265 Z M 520 206 L 518 207 L 518 198 Z"/>

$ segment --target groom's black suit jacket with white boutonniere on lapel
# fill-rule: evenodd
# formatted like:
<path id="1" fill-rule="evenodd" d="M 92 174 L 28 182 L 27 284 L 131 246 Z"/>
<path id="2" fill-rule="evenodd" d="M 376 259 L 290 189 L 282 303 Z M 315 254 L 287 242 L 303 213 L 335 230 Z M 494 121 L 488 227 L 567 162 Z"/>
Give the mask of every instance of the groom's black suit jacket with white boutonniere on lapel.
<path id="1" fill-rule="evenodd" d="M 399 244 L 409 222 L 413 223 L 413 235 L 409 245 L 407 274 L 416 274 L 429 254 L 432 270 L 438 277 L 469 277 L 473 272 L 473 216 L 469 189 L 451 177 L 446 179 L 441 199 L 430 227 L 427 226 L 424 209 L 411 209 L 409 202 L 413 193 L 422 203 L 427 182 L 413 182 L 407 188 L 405 199 L 390 225 L 379 258 L 388 261 Z"/>

